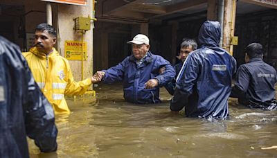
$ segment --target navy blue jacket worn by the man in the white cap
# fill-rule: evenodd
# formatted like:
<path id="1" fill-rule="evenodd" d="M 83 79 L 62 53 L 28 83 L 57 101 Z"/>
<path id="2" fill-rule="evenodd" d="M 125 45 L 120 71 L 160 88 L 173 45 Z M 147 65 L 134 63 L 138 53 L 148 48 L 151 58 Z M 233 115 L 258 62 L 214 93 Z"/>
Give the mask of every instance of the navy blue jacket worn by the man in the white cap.
<path id="1" fill-rule="evenodd" d="M 159 74 L 159 69 L 165 67 L 166 70 Z M 154 55 L 148 51 L 144 62 L 139 66 L 136 64 L 134 55 L 130 55 L 115 67 L 105 71 L 103 81 L 112 83 L 123 80 L 124 98 L 127 102 L 137 104 L 160 103 L 159 87 L 166 85 L 175 76 L 175 71 L 170 62 L 159 55 Z M 145 82 L 156 78 L 158 87 L 145 89 Z"/>

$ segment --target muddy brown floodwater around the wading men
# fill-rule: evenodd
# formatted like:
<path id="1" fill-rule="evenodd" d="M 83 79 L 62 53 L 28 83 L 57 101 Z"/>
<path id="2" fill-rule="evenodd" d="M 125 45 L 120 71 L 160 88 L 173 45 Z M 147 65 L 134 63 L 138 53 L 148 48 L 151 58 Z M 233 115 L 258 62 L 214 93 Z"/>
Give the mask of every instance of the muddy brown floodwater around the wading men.
<path id="1" fill-rule="evenodd" d="M 68 100 L 70 115 L 56 116 L 55 153 L 41 154 L 28 141 L 30 157 L 277 157 L 277 115 L 229 100 L 230 119 L 184 118 L 163 103 L 133 105 L 120 85 L 100 85 L 97 98 Z"/>

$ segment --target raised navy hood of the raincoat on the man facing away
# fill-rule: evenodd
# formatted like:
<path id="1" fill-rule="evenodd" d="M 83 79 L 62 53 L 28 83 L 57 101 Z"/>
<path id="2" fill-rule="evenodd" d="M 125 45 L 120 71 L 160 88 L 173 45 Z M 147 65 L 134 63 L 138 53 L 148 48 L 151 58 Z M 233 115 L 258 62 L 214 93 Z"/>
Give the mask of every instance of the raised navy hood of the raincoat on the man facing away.
<path id="1" fill-rule="evenodd" d="M 221 27 L 218 21 L 205 21 L 202 24 L 199 35 L 198 42 L 200 48 L 207 47 L 218 47 L 220 43 Z"/>

